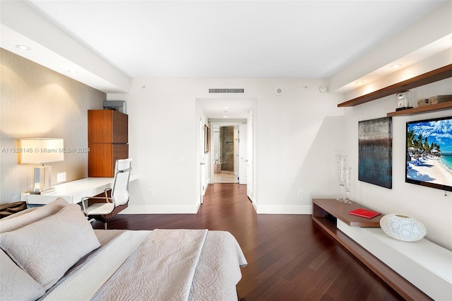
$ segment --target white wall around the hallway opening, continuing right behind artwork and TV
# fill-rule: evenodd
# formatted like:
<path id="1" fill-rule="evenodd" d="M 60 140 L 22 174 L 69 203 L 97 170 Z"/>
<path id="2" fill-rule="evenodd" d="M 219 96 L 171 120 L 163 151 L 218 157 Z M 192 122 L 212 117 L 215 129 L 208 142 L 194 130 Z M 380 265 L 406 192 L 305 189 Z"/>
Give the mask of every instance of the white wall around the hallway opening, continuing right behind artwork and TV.
<path id="1" fill-rule="evenodd" d="M 246 98 L 256 99 L 254 197 L 258 213 L 310 213 L 313 197 L 338 196 L 335 153 L 345 151 L 352 167 L 352 200 L 383 214 L 414 216 L 427 226 L 430 240 L 452 249 L 452 194 L 444 196 L 444 191 L 405 183 L 403 174 L 405 122 L 451 115 L 452 110 L 393 117 L 393 189 L 385 189 L 357 180 L 357 126 L 361 120 L 386 116 L 396 101 L 390 96 L 338 108 L 342 96 L 320 93 L 321 84 L 304 79 L 133 80 L 127 98 L 129 141 L 140 179 L 131 187 L 127 212 L 197 211 L 201 112 L 196 99 L 208 98 L 207 87 L 237 86 L 246 88 Z M 275 87 L 283 87 L 283 95 L 275 95 Z M 449 78 L 412 89 L 412 93 L 416 99 L 452 94 L 451 87 Z M 178 155 L 184 163 L 176 163 Z M 148 196 L 150 188 L 155 196 Z"/>

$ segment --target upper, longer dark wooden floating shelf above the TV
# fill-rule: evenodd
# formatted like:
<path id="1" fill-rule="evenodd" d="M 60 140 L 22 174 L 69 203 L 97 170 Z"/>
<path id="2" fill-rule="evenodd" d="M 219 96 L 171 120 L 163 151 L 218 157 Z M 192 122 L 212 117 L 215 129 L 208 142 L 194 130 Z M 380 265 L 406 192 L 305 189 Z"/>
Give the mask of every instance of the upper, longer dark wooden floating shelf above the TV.
<path id="1" fill-rule="evenodd" d="M 359 98 L 354 98 L 352 100 L 347 100 L 346 102 L 341 102 L 338 107 L 354 107 L 355 105 L 361 105 L 363 103 L 376 100 L 379 98 L 384 98 L 388 95 L 393 95 L 401 90 L 410 90 L 412 88 L 419 87 L 421 85 L 427 85 L 427 83 L 434 83 L 435 81 L 441 81 L 445 78 L 452 77 L 452 64 L 446 65 L 439 69 L 429 71 L 427 73 L 421 74 L 420 76 L 415 76 L 413 78 L 407 79 L 406 81 L 400 81 L 400 83 L 395 83 L 393 85 L 388 85 L 386 88 L 381 88 L 372 93 L 359 96 Z M 432 107 L 432 106 L 431 106 Z M 416 108 L 417 109 L 417 108 Z M 413 110 L 413 109 L 412 109 Z M 435 110 L 430 108 L 430 110 Z M 408 111 L 408 110 L 406 110 Z M 420 111 L 425 112 L 425 111 Z M 413 114 L 413 113 L 407 113 Z M 415 114 L 415 113 L 414 113 Z M 396 114 L 398 115 L 398 114 Z M 396 116 L 391 115 L 391 116 Z"/>

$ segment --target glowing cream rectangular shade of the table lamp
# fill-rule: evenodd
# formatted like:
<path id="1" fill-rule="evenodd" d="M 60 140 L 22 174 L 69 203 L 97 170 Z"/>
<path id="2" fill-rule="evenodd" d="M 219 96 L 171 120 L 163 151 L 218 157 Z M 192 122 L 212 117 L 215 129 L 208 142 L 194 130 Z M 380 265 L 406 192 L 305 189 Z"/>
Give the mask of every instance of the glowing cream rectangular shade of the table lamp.
<path id="1" fill-rule="evenodd" d="M 20 139 L 20 164 L 44 164 L 64 160 L 63 138 Z"/>

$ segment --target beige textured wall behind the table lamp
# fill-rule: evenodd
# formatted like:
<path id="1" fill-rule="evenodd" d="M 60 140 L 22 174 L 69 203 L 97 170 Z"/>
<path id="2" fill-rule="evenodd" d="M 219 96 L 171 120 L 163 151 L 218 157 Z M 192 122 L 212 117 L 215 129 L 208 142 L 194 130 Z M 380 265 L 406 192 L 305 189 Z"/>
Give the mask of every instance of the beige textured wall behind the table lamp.
<path id="1" fill-rule="evenodd" d="M 20 138 L 64 138 L 64 148 L 88 147 L 88 110 L 102 109 L 105 93 L 0 49 L 0 203 L 34 188 L 32 164 L 18 164 Z M 65 153 L 49 163 L 52 184 L 88 177 L 88 153 Z"/>

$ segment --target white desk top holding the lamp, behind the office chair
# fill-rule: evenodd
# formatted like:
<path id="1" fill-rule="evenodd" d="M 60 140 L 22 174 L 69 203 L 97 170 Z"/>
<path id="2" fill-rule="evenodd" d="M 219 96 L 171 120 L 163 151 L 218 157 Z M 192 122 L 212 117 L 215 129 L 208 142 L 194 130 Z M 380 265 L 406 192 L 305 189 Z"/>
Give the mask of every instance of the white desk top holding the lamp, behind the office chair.
<path id="1" fill-rule="evenodd" d="M 129 182 L 138 179 L 138 175 L 130 175 Z M 111 188 L 114 177 L 85 177 L 75 181 L 57 184 L 55 190 L 48 194 L 21 194 L 20 201 L 27 201 L 30 205 L 43 205 L 57 198 L 63 198 L 68 203 L 79 203 L 84 196 L 101 194 Z"/>

